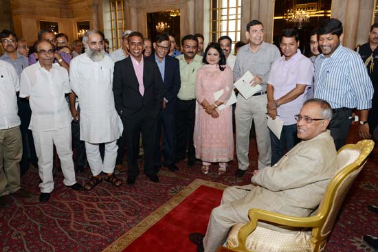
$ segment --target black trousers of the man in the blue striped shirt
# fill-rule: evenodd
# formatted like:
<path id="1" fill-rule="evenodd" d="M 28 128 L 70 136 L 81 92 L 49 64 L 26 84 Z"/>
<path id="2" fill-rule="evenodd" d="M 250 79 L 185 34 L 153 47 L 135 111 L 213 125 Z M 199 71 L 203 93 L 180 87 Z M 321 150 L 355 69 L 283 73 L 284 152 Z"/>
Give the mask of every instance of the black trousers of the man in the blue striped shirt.
<path id="1" fill-rule="evenodd" d="M 332 119 L 329 123 L 329 130 L 335 142 L 336 150 L 345 145 L 346 137 L 348 137 L 349 129 L 351 128 L 352 108 L 336 108 L 332 110 Z"/>

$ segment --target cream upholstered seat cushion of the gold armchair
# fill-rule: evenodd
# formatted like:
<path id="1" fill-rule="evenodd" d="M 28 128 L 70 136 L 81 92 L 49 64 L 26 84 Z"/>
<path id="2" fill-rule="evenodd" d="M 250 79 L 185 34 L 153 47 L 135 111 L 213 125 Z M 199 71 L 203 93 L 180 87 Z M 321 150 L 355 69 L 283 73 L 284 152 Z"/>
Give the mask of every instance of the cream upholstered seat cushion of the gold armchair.
<path id="1" fill-rule="evenodd" d="M 238 223 L 232 227 L 229 233 L 227 244 L 231 248 L 238 246 L 238 231 L 241 227 L 243 227 L 243 224 Z M 248 251 L 254 252 L 307 252 L 312 251 L 310 240 L 310 231 L 282 233 L 264 227 L 256 227 L 256 229 L 247 237 L 245 247 Z"/>

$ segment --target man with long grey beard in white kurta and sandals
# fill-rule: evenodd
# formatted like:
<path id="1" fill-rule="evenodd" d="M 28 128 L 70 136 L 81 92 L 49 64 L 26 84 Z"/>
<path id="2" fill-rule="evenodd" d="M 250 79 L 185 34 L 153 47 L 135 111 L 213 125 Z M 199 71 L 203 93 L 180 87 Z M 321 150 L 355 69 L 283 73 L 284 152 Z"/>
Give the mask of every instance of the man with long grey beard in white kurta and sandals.
<path id="1" fill-rule="evenodd" d="M 113 96 L 114 62 L 105 55 L 104 38 L 96 30 L 89 30 L 82 43 L 85 54 L 71 61 L 69 76 L 71 88 L 80 100 L 80 140 L 85 141 L 87 160 L 93 176 L 84 185 L 91 190 L 104 180 L 122 185 L 114 172 L 117 157 L 117 139 L 122 135 L 122 121 L 115 111 Z M 105 144 L 104 160 L 99 144 Z"/>

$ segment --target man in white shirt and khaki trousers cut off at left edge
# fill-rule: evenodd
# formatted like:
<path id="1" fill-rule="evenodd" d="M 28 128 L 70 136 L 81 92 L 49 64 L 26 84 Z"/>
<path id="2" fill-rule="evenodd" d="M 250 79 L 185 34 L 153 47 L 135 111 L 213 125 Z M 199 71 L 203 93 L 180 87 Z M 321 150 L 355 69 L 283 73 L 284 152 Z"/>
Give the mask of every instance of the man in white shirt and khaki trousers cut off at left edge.
<path id="1" fill-rule="evenodd" d="M 19 89 L 16 70 L 10 63 L 0 60 L 0 207 L 12 203 L 8 194 L 23 198 L 31 196 L 21 188 L 21 121 L 17 115 L 16 97 Z"/>

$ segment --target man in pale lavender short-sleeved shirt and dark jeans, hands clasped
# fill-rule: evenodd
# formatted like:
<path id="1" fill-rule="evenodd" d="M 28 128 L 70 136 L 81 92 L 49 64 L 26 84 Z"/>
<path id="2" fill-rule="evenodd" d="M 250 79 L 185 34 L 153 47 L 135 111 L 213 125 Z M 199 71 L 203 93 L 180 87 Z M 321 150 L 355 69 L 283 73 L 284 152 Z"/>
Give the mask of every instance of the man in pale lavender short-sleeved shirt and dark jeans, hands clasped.
<path id="1" fill-rule="evenodd" d="M 298 49 L 299 33 L 288 28 L 282 30 L 280 48 L 283 56 L 271 67 L 267 82 L 267 111 L 271 119 L 280 117 L 284 122 L 280 139 L 270 132 L 271 165 L 277 163 L 298 143 L 296 119 L 306 100 L 307 87 L 313 80 L 313 63 Z"/>

